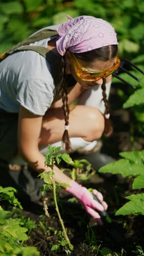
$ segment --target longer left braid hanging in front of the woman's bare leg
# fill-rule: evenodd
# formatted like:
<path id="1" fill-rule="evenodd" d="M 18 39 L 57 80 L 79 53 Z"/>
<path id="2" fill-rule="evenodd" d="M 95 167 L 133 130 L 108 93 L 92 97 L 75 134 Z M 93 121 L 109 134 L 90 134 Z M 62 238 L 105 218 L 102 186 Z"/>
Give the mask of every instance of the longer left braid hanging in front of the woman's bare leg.
<path id="1" fill-rule="evenodd" d="M 62 102 L 63 102 L 63 114 L 65 120 L 65 126 L 69 125 L 69 106 L 68 106 L 68 96 L 67 96 L 67 75 L 65 74 L 65 61 L 64 57 L 62 57 L 61 62 L 62 67 L 62 79 L 61 79 L 61 88 L 62 88 Z M 65 144 L 65 149 L 69 150 L 71 148 L 69 133 L 68 130 L 64 130 L 62 143 Z"/>

